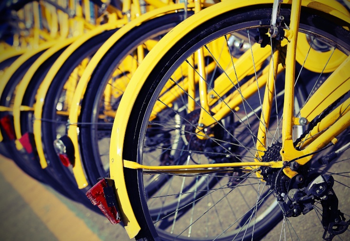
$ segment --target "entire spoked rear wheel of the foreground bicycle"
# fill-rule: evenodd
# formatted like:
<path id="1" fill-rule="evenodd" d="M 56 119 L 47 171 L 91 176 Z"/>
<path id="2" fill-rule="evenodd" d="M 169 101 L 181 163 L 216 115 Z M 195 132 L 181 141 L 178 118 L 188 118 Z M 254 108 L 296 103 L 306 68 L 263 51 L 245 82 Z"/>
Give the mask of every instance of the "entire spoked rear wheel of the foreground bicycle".
<path id="1" fill-rule="evenodd" d="M 225 3 L 219 3 L 217 5 L 215 7 L 219 8 L 220 5 L 225 5 Z M 216 10 L 218 10 L 217 8 Z M 282 133 L 280 123 L 283 116 L 283 109 L 279 104 L 283 101 L 279 101 L 279 96 L 283 95 L 284 90 L 283 88 L 279 89 L 278 83 L 284 80 L 283 71 L 279 72 L 281 77 L 278 76 L 275 80 L 275 96 L 272 101 L 272 110 L 275 112 L 271 113 L 269 126 L 263 127 L 266 129 L 267 140 L 265 151 L 257 150 L 256 147 L 258 142 L 256 141 L 256 135 L 259 124 L 261 122 L 265 123 L 263 119 L 267 118 L 267 115 L 270 115 L 269 113 L 265 113 L 265 117 L 264 115 L 262 115 L 262 118 L 260 117 L 264 94 L 260 93 L 262 91 L 259 91 L 258 87 L 255 87 L 254 94 L 248 95 L 243 91 L 249 88 L 249 86 L 252 86 L 252 84 L 255 86 L 259 85 L 258 80 L 261 80 L 260 74 L 266 66 L 264 62 L 258 65 L 255 61 L 256 56 L 254 53 L 258 50 L 252 46 L 252 42 L 261 29 L 269 27 L 268 24 L 264 27 L 262 20 L 270 19 L 271 9 L 272 6 L 259 5 L 232 11 L 225 10 L 225 14 L 215 15 L 210 20 L 196 24 L 191 31 L 179 39 L 174 45 L 167 47 L 166 54 L 153 64 L 150 74 L 144 77 L 144 85 L 132 107 L 124 136 L 124 160 L 137 161 L 145 165 L 159 165 L 159 157 L 167 151 L 171 152 L 169 154 L 173 155 L 173 158 L 179 159 L 180 157 L 184 157 L 188 164 L 254 161 L 257 159 L 257 152 L 262 157 L 261 161 L 280 160 L 279 151 L 282 145 L 279 140 Z M 205 10 L 202 13 L 206 13 Z M 282 5 L 280 13 L 284 16 L 284 21 L 288 26 L 290 19 L 288 5 Z M 340 56 L 335 59 L 336 61 L 339 58 L 341 61 L 347 58 L 350 53 L 349 31 L 341 26 L 349 27 L 349 23 L 309 8 L 302 8 L 300 16 L 299 31 L 308 36 L 306 43 L 309 44 L 309 49 L 321 53 L 322 59 L 320 59 L 318 64 L 324 64 L 324 69 L 326 69 L 326 63 L 334 60 L 331 57 L 335 53 Z M 217 101 L 210 102 L 208 100 L 209 103 L 213 104 L 209 105 L 209 110 L 207 110 L 206 106 L 202 106 L 201 102 L 196 100 L 195 97 L 198 96 L 197 94 L 191 95 L 185 90 L 185 84 L 181 81 L 186 76 L 182 76 L 181 79 L 175 79 L 174 76 L 176 76 L 176 72 L 186 73 L 182 71 L 184 66 L 187 66 L 187 68 L 194 67 L 194 72 L 199 75 L 197 66 L 191 65 L 188 59 L 202 47 L 211 53 L 210 44 L 215 45 L 216 41 L 220 39 L 224 39 L 222 49 L 226 49 L 230 53 L 235 52 L 230 48 L 232 45 L 229 40 L 232 36 L 246 40 L 241 42 L 243 45 L 246 44 L 248 46 L 247 52 L 249 53 L 248 56 L 250 56 L 250 69 L 253 72 L 246 73 L 243 76 L 236 75 L 237 72 L 234 71 L 228 72 L 224 63 L 228 62 L 231 64 L 231 68 L 233 68 L 234 61 L 222 60 L 220 59 L 220 54 L 209 54 L 211 58 L 209 58 L 208 63 L 214 62 L 217 66 L 216 69 L 220 70 L 219 77 L 226 76 L 226 81 L 230 82 L 231 85 L 227 91 L 223 90 L 220 93 L 214 92 L 213 97 L 209 96 L 212 99 L 217 98 Z M 306 44 L 305 42 L 302 43 Z M 284 44 L 287 43 L 282 42 L 282 45 Z M 320 46 L 325 49 L 321 50 Z M 267 45 L 267 47 L 269 53 L 271 53 L 272 45 Z M 302 54 L 304 55 L 303 60 L 308 60 L 308 55 L 306 53 Z M 270 58 L 264 57 L 264 59 L 269 60 Z M 326 61 L 321 63 L 323 60 Z M 295 81 L 295 89 L 298 91 L 294 93 L 295 98 L 298 100 L 295 101 L 294 112 L 296 116 L 298 116 L 299 109 L 308 102 L 310 96 L 315 92 L 317 93 L 319 86 L 329 77 L 330 73 L 325 72 L 331 72 L 311 72 L 302 67 L 302 62 L 300 64 L 300 71 L 296 73 L 296 76 L 299 77 Z M 238 66 L 236 67 L 236 70 L 238 70 Z M 140 70 L 140 73 L 142 71 L 143 69 Z M 212 89 L 215 90 L 217 87 L 216 84 L 219 81 L 219 77 L 215 73 L 209 74 L 208 76 L 201 75 L 198 77 L 205 80 L 208 92 Z M 251 76 L 248 74 L 252 74 L 253 78 L 251 79 Z M 213 79 L 211 79 L 212 76 Z M 236 78 L 238 80 L 235 82 Z M 305 83 L 300 81 L 302 79 Z M 166 102 L 166 99 L 163 97 L 172 90 L 179 94 L 177 94 L 175 100 Z M 306 91 L 308 94 L 304 95 L 300 91 Z M 329 107 L 330 109 L 326 111 L 326 114 L 329 114 L 332 110 L 336 110 L 340 103 L 345 104 L 347 106 L 345 109 L 348 110 L 349 104 L 347 105 L 346 102 L 349 101 L 348 98 L 349 96 L 339 98 L 336 104 Z M 188 102 L 192 100 L 195 100 L 195 108 L 190 109 Z M 238 102 L 235 105 L 231 105 L 230 100 L 236 100 Z M 121 104 L 123 103 L 125 102 L 122 100 Z M 163 106 L 163 109 L 160 109 L 159 106 Z M 228 112 L 220 119 L 215 119 L 215 114 L 225 106 L 229 106 Z M 183 111 L 184 109 L 185 111 Z M 199 123 L 201 123 L 199 121 L 201 109 L 205 109 L 206 114 L 212 120 L 210 125 L 203 126 L 204 134 L 202 133 L 202 135 L 205 138 L 202 139 L 198 138 L 197 135 L 197 132 L 202 130 L 199 129 L 201 127 L 199 126 Z M 170 119 L 169 115 L 164 115 L 166 111 L 172 112 L 173 118 Z M 321 119 L 324 119 L 324 116 L 315 117 L 315 122 Z M 169 133 L 171 138 L 167 138 L 166 140 L 170 141 L 170 143 L 149 141 L 154 129 L 160 129 L 159 132 L 161 133 Z M 294 137 L 296 147 L 299 149 L 304 148 L 305 137 L 301 133 L 304 133 L 305 130 L 309 133 L 311 129 L 311 124 L 303 128 L 299 128 L 299 126 L 295 128 Z M 179 141 L 179 135 L 183 141 Z M 346 141 L 347 138 L 349 138 L 349 131 L 341 134 L 338 140 Z M 346 148 L 346 145 L 344 148 Z M 326 154 L 322 152 L 322 155 Z M 169 159 L 172 160 L 173 158 Z M 304 178 L 306 181 L 303 181 L 301 186 L 304 188 L 307 187 L 317 175 L 320 176 L 325 173 L 332 174 L 331 176 L 336 180 L 335 183 L 340 183 L 333 186 L 333 190 L 339 199 L 339 209 L 342 213 L 345 213 L 345 217 L 349 217 L 348 199 L 345 194 L 349 192 L 349 180 L 342 175 L 336 175 L 336 173 L 347 170 L 349 163 L 346 161 L 337 161 L 338 163 L 336 165 L 332 165 L 333 162 L 326 165 L 320 164 L 316 158 L 315 160 L 303 166 L 302 173 L 305 175 Z M 339 166 L 342 167 L 339 168 Z M 251 171 L 247 171 L 247 169 L 233 171 L 227 171 L 225 169 L 215 170 L 213 173 L 201 175 L 180 175 L 173 173 L 171 182 L 167 181 L 158 192 L 152 196 L 148 196 L 147 192 L 145 192 L 145 183 L 148 177 L 154 173 L 124 168 L 127 192 L 130 197 L 133 197 L 131 205 L 134 212 L 138 214 L 137 219 L 142 227 L 136 239 L 156 239 L 157 236 L 162 240 L 226 241 L 261 239 L 281 218 L 281 208 L 277 204 L 274 195 L 287 197 L 289 185 L 295 185 L 295 179 L 289 180 L 283 173 L 277 174 L 277 172 L 273 171 L 269 173 L 270 170 L 268 170 L 264 173 L 265 176 L 263 175 L 263 181 L 256 174 L 256 171 L 260 172 L 260 170 L 252 168 Z M 155 206 L 161 207 L 163 203 L 174 197 L 180 202 L 182 194 L 188 193 L 187 190 L 182 188 L 185 186 L 185 183 L 193 183 L 199 178 L 209 178 L 210 176 L 218 179 L 214 187 L 191 192 L 193 201 L 185 207 L 177 208 L 174 212 L 163 217 L 160 216 L 157 219 L 151 217 L 149 210 L 154 209 Z M 138 189 L 135 188 L 136 185 Z M 199 192 L 205 192 L 205 195 L 203 198 L 197 199 L 196 195 Z M 323 205 L 320 205 L 319 199 L 317 202 L 310 201 L 309 204 L 312 206 L 309 206 L 309 211 L 313 209 L 315 213 L 322 216 L 322 211 L 320 210 L 322 210 Z M 290 208 L 290 203 L 288 205 L 288 208 Z M 293 212 L 293 209 L 291 209 L 291 212 Z M 141 215 L 141 213 L 144 215 Z M 293 215 L 297 216 L 297 214 L 300 215 L 301 211 L 296 210 Z M 327 222 L 325 221 L 327 216 L 325 212 L 323 214 L 323 223 L 325 223 Z M 345 221 L 345 218 L 342 221 Z M 290 225 L 289 218 L 285 218 L 285 223 L 285 230 L 282 233 L 289 233 L 287 234 L 288 236 L 295 237 L 298 230 L 294 231 L 290 226 L 288 229 L 288 225 Z M 319 228 L 323 230 L 323 225 L 320 225 L 320 223 L 318 223 Z M 342 227 L 346 226 L 344 223 L 342 225 L 344 225 Z M 344 233 L 343 235 L 346 237 L 347 234 Z"/>

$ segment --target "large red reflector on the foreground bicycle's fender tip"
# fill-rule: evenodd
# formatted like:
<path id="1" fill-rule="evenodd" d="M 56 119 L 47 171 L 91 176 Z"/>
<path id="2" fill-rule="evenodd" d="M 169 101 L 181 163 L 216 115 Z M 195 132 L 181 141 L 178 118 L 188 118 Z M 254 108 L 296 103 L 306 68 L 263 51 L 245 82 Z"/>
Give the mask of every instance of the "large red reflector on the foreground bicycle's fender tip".
<path id="1" fill-rule="evenodd" d="M 113 186 L 108 185 L 105 179 L 102 179 L 97 182 L 89 191 L 87 191 L 86 197 L 90 199 L 92 204 L 97 205 L 100 208 L 104 216 L 106 216 L 112 224 L 117 224 L 120 222 L 120 217 L 116 206 L 111 203 L 111 199 L 112 202 L 116 201 L 113 188 Z M 108 202 L 107 197 L 109 199 Z"/>

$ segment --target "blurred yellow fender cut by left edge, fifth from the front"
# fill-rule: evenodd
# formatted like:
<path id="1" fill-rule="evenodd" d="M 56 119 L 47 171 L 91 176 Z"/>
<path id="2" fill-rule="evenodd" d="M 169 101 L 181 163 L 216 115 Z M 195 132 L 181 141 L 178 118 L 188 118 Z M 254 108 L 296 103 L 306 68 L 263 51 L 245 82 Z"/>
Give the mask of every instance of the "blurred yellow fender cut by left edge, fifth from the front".
<path id="1" fill-rule="evenodd" d="M 26 53 L 22 54 L 17 60 L 15 60 L 4 72 L 1 81 L 0 81 L 0 96 L 12 75 L 16 72 L 16 70 L 27 60 L 29 60 L 32 56 L 40 53 L 41 51 L 50 48 L 57 41 L 50 41 L 41 44 L 39 47 L 33 48 L 32 50 L 28 50 Z M 3 140 L 1 131 L 0 131 L 0 141 Z"/>

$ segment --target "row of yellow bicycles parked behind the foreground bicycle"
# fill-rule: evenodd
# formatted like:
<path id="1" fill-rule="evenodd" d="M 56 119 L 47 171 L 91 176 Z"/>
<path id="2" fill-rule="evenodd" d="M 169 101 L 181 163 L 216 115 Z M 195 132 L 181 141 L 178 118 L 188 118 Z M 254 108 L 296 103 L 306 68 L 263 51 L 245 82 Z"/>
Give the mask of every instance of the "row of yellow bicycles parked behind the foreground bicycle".
<path id="1" fill-rule="evenodd" d="M 156 41 L 145 35 L 148 27 L 139 27 L 143 32 L 133 27 L 164 12 L 136 20 L 146 10 L 166 5 L 158 0 L 147 6 L 144 1 L 123 6 L 100 0 L 2 1 L 1 154 L 94 209 L 85 193 L 108 176 L 112 122 L 142 60 L 141 54 L 135 59 L 138 46 L 149 40 L 151 48 Z M 179 8 L 174 5 L 169 11 Z M 132 20 L 124 33 L 115 34 Z M 70 139 L 78 141 L 78 135 L 74 146 Z"/>

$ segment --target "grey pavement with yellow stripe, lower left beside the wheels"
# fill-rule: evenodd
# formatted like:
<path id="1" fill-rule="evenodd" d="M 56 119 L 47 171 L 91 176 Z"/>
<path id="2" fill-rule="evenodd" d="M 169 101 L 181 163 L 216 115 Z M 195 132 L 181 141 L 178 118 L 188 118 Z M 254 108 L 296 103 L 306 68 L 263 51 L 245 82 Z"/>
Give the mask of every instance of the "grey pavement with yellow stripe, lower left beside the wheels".
<path id="1" fill-rule="evenodd" d="M 120 225 L 70 201 L 0 156 L 1 241 L 130 240 Z"/>

